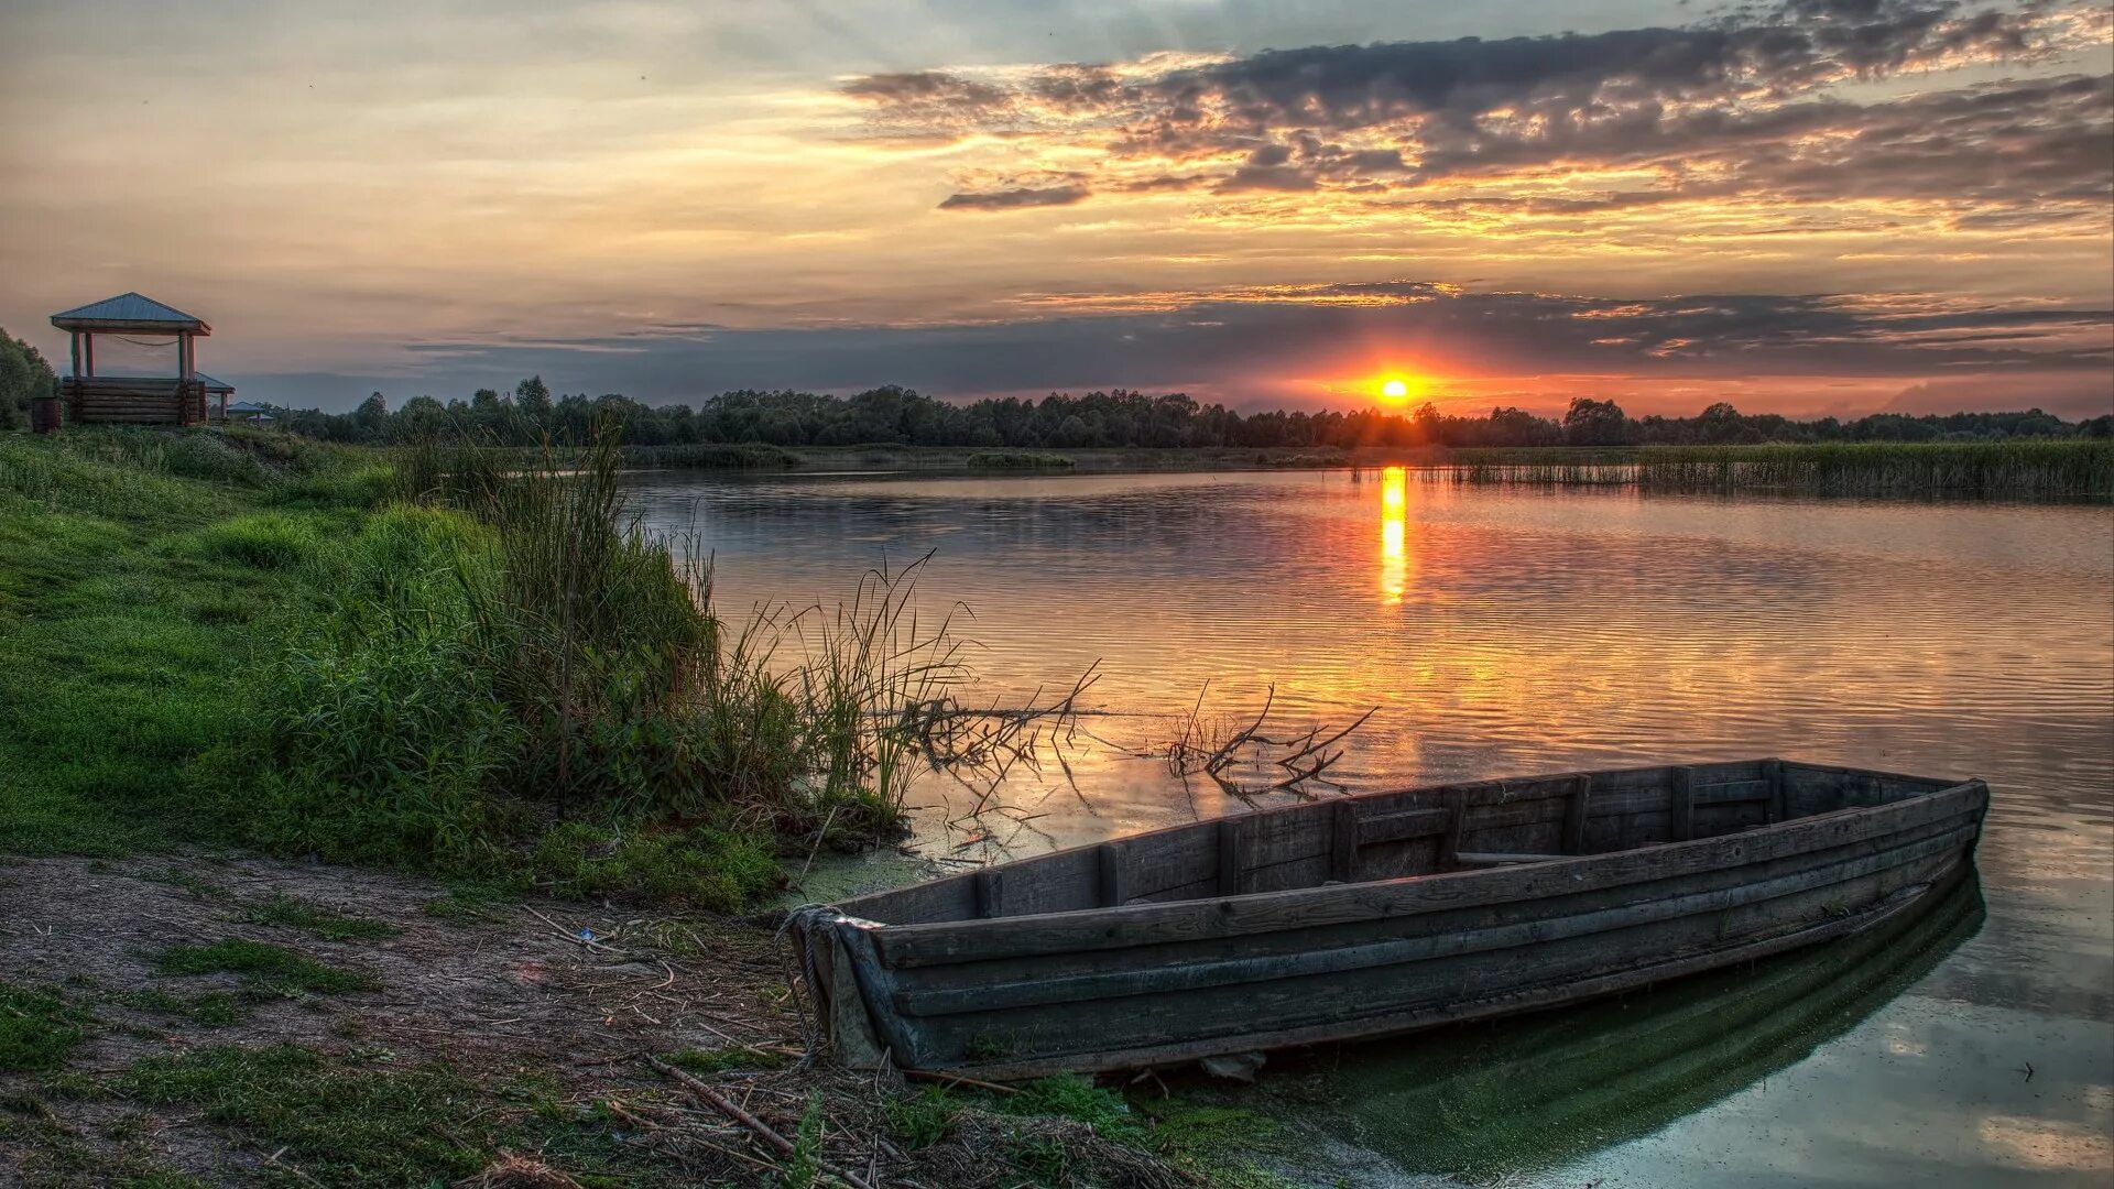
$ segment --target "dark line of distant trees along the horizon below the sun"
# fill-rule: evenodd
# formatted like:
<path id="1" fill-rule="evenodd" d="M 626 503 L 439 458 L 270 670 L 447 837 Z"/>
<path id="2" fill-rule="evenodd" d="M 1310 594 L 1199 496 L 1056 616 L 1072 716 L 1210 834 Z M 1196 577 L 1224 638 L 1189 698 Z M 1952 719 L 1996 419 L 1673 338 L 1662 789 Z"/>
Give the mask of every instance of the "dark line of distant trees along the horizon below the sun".
<path id="1" fill-rule="evenodd" d="M 622 423 L 638 446 L 765 442 L 772 446 L 1216 446 L 1216 449 L 1355 449 L 1355 446 L 1685 446 L 1740 442 L 1939 442 L 2002 438 L 2114 436 L 2114 415 L 2063 421 L 2053 413 L 1873 413 L 1841 421 L 1795 421 L 1776 413 L 1740 413 L 1719 402 L 1695 417 L 1630 417 L 1613 400 L 1577 398 L 1560 417 L 1497 406 L 1457 417 L 1433 404 L 1410 413 L 1271 410 L 1235 413 L 1199 404 L 1186 394 L 1148 396 L 1129 389 L 1051 394 L 1042 400 L 985 398 L 966 404 L 886 385 L 856 396 L 810 391 L 727 391 L 689 404 L 643 404 L 626 396 L 554 396 L 531 377 L 512 394 L 478 389 L 442 404 L 431 396 L 389 408 L 383 394 L 351 413 L 275 408 L 285 429 L 332 442 L 395 444 L 465 438 L 528 446 L 581 444 L 600 425 Z"/>

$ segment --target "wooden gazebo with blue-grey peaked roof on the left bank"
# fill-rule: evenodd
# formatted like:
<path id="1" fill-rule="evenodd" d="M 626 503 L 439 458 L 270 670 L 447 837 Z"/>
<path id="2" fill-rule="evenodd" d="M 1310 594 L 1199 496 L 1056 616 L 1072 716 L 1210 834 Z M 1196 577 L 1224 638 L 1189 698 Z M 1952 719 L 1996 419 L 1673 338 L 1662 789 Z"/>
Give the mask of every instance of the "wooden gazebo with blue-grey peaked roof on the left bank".
<path id="1" fill-rule="evenodd" d="M 51 324 L 74 336 L 74 374 L 59 381 L 66 419 L 140 425 L 203 425 L 205 385 L 194 341 L 214 328 L 201 317 L 140 294 L 120 294 L 53 313 Z M 175 345 L 175 379 L 95 374 L 95 336 L 116 334 L 146 347 Z M 144 339 L 144 341 L 142 341 Z M 169 343 L 163 343 L 167 339 Z M 233 389 L 228 389 L 233 391 Z M 226 400 L 226 396 L 222 396 Z"/>

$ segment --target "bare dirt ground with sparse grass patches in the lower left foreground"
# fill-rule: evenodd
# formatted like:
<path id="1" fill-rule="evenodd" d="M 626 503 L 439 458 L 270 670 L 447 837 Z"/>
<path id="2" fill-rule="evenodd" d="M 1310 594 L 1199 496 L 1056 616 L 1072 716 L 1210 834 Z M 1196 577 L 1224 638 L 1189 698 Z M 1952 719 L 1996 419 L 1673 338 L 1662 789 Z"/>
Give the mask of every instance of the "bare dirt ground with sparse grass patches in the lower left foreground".
<path id="1" fill-rule="evenodd" d="M 0 1062 L 0 1185 L 1203 1183 L 1072 1119 L 803 1066 L 772 933 L 719 918 L 264 859 L 0 859 L 8 988 L 0 1054 L 11 1011 L 63 1056 Z"/>

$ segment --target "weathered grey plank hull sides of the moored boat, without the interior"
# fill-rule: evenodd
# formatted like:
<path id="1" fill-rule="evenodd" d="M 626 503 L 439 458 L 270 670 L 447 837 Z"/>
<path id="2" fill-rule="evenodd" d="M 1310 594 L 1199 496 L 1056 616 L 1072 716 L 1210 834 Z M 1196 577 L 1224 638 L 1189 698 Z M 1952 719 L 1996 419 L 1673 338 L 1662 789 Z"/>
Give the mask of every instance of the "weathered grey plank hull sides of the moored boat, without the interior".
<path id="1" fill-rule="evenodd" d="M 909 922 L 860 918 L 854 901 L 799 920 L 810 982 L 843 1060 L 869 1064 L 886 1051 L 898 1066 L 996 1079 L 1389 1037 L 1613 994 L 1913 914 L 1966 872 L 1989 800 L 1981 781 L 1753 766 L 1769 772 L 1767 812 L 1797 808 L 1799 795 L 1826 804 L 1822 785 L 1848 804 L 1708 838 L 1539 861 L 1492 855 L 1518 861 L 1279 891 Z M 1670 795 L 1689 804 L 1668 808 L 1668 821 L 1687 815 L 1695 829 L 1695 789 L 1710 785 L 1685 768 L 1505 783 L 1495 798 L 1488 785 L 1457 785 L 1336 802 L 1351 810 L 1298 806 L 1292 812 L 1330 812 L 1334 855 L 1262 872 L 1300 861 L 1340 870 L 1349 838 L 1357 874 L 1380 859 L 1361 850 L 1359 821 L 1406 815 L 1440 825 L 1435 850 L 1469 859 L 1478 853 L 1463 842 L 1488 844 L 1492 829 L 1522 838 L 1547 821 L 1579 834 L 1558 806 L 1531 808 L 1558 800 L 1537 789 L 1600 781 L 1613 793 L 1626 787 L 1617 776 L 1636 772 L 1672 772 Z M 1590 802 L 1586 791 L 1575 798 Z M 1300 834 L 1296 823 L 1264 829 Z M 1184 836 L 1203 831 L 1133 842 L 1192 846 Z M 1106 867 L 1106 853 L 1097 861 Z M 1226 886 L 1251 880 L 1254 867 L 1237 865 Z M 1110 895 L 1106 876 L 1089 882 Z M 1061 886 L 1053 880 L 1040 895 L 1063 895 L 1051 891 Z M 989 889 L 975 895 L 998 899 Z M 894 908 L 905 903 L 915 906 Z"/>

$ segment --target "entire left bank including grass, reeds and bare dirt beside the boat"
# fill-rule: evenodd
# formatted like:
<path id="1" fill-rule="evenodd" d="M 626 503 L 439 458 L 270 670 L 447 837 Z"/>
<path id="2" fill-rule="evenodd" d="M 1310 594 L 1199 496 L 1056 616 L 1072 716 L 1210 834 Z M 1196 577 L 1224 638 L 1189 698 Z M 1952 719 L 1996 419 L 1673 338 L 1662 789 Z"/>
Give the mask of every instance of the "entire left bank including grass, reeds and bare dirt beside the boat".
<path id="1" fill-rule="evenodd" d="M 769 933 L 693 910 L 894 827 L 949 643 L 898 575 L 729 637 L 569 463 L 0 436 L 0 1176 L 1283 1185 L 1089 1081 L 795 1060 Z"/>

